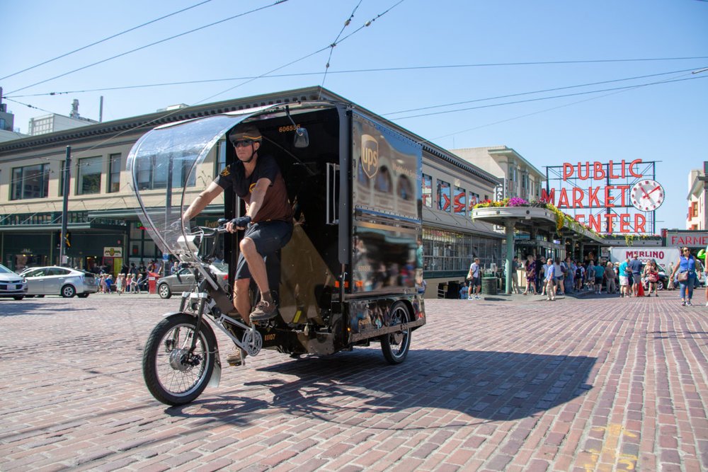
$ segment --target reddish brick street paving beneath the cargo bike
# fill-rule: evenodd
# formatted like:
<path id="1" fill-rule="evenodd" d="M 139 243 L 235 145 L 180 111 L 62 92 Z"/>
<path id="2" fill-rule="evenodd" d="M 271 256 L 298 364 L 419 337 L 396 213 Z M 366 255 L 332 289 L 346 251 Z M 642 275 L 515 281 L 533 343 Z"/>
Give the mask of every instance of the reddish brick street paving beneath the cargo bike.
<path id="1" fill-rule="evenodd" d="M 708 470 L 702 291 L 494 298 L 428 300 L 400 366 L 263 352 L 181 408 L 140 369 L 178 300 L 0 300 L 0 470 Z"/>

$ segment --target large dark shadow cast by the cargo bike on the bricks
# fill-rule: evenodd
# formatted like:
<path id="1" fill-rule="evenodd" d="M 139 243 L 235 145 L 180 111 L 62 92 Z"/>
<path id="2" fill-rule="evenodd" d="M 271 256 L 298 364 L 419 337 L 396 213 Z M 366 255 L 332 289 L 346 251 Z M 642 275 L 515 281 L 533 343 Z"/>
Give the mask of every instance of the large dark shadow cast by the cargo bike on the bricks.
<path id="1" fill-rule="evenodd" d="M 397 427 L 381 413 L 402 420 L 418 408 L 444 408 L 483 420 L 517 420 L 549 410 L 582 396 L 595 357 L 486 352 L 465 350 L 414 350 L 404 364 L 387 364 L 378 350 L 358 350 L 331 357 L 282 362 L 258 369 L 295 376 L 292 381 L 265 379 L 244 382 L 234 393 L 210 398 L 205 392 L 198 403 L 202 413 L 226 422 L 249 422 L 280 408 L 292 415 L 314 416 L 346 425 L 387 429 Z M 273 401 L 249 398 L 248 391 L 266 387 Z M 213 393 L 212 393 L 213 395 Z M 203 410 L 209 413 L 203 414 Z M 166 413 L 194 416 L 181 408 Z M 364 413 L 364 415 L 360 415 Z M 250 418 L 250 419 L 249 419 Z M 362 419 L 369 418 L 369 419 Z M 377 418 L 375 420 L 375 418 Z M 460 426 L 469 422 L 460 422 Z"/>

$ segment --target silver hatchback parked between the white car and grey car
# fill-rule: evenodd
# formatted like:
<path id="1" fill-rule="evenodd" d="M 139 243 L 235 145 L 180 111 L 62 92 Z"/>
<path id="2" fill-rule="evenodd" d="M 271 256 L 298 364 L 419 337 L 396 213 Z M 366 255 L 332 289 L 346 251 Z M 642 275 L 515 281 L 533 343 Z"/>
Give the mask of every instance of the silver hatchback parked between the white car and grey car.
<path id="1" fill-rule="evenodd" d="M 43 297 L 45 295 L 61 295 L 71 298 L 77 295 L 81 298 L 98 292 L 96 276 L 84 270 L 68 267 L 30 267 L 21 275 L 27 280 L 28 297 Z"/>

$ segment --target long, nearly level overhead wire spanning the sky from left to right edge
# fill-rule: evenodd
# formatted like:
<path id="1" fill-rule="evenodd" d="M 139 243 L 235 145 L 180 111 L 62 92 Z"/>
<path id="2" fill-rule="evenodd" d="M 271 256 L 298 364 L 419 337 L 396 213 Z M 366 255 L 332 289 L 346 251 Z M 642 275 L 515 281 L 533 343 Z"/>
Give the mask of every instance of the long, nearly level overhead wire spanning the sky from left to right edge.
<path id="1" fill-rule="evenodd" d="M 340 41 L 341 42 L 341 41 Z M 328 49 L 331 45 L 318 50 L 321 52 Z M 309 57 L 309 56 L 308 56 Z M 653 59 L 607 59 L 611 62 L 637 62 L 637 61 L 675 61 L 675 60 L 687 60 L 687 59 L 708 59 L 708 56 L 697 56 L 697 57 L 661 57 Z M 562 64 L 582 64 L 582 63 L 593 63 L 598 62 L 595 60 L 590 61 L 566 61 Z M 328 74 L 360 74 L 367 72 L 394 72 L 394 71 L 409 71 L 409 70 L 434 70 L 434 69 L 450 69 L 450 68 L 464 68 L 464 67 L 500 67 L 500 66 L 511 66 L 511 65 L 543 65 L 543 64 L 561 64 L 561 62 L 501 62 L 496 64 L 455 64 L 455 65 L 440 65 L 440 66 L 414 66 L 414 67 L 382 67 L 377 69 L 347 69 L 343 71 L 328 71 Z M 52 96 L 52 95 L 62 95 L 69 93 L 87 93 L 87 92 L 103 92 L 112 90 L 126 90 L 131 88 L 150 88 L 150 87 L 163 87 L 163 86 L 175 86 L 175 85 L 190 85 L 190 84 L 208 84 L 210 82 L 228 82 L 236 80 L 252 80 L 252 79 L 278 79 L 283 77 L 299 77 L 299 76 L 319 76 L 324 74 L 321 71 L 316 72 L 299 72 L 297 74 L 268 74 L 260 76 L 243 76 L 243 77 L 226 77 L 224 79 L 202 79 L 202 80 L 192 80 L 192 81 L 176 81 L 176 82 L 162 82 L 158 84 L 137 84 L 128 86 L 116 86 L 116 87 L 102 87 L 102 88 L 84 88 L 82 90 L 71 90 L 71 91 L 60 91 L 60 92 L 45 92 L 45 93 L 28 93 L 23 95 L 8 95 L 12 98 L 23 98 L 23 97 L 39 97 L 39 96 Z M 667 73 L 670 74 L 670 73 Z M 618 80 L 629 80 L 629 79 L 618 79 Z M 442 105 L 440 105 L 442 106 Z M 411 111 L 411 110 L 406 110 Z M 398 112 L 392 112 L 398 113 Z M 401 112 L 403 113 L 403 112 Z"/>

